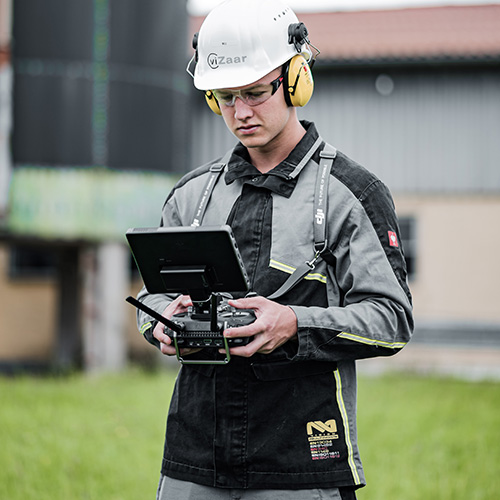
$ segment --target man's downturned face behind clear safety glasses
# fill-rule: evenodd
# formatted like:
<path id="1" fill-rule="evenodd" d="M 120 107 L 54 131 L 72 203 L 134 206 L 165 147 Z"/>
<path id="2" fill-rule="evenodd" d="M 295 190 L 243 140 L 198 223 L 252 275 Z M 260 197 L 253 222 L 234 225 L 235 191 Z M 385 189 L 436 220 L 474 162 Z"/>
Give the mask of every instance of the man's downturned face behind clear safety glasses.
<path id="1" fill-rule="evenodd" d="M 250 85 L 216 91 L 216 94 L 227 97 L 226 101 L 229 103 L 225 104 L 222 99 L 219 102 L 226 126 L 247 148 L 261 148 L 265 151 L 274 147 L 278 141 L 286 140 L 286 131 L 291 122 L 290 116 L 295 113 L 295 109 L 286 104 L 281 88 L 278 88 L 265 102 L 257 105 L 249 104 L 252 103 L 254 91 L 255 95 L 258 95 L 280 75 L 281 70 L 275 69 Z M 240 97 L 231 99 L 231 92 L 235 91 L 240 91 L 247 103 Z M 240 95 L 239 92 L 236 94 Z"/>

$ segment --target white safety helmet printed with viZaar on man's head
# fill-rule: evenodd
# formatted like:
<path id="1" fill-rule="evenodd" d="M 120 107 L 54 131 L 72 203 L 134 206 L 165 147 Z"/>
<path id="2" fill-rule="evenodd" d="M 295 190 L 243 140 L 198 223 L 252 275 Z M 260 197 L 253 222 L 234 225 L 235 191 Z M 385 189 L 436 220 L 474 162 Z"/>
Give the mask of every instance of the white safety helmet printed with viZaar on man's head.
<path id="1" fill-rule="evenodd" d="M 302 26 L 302 33 L 290 35 L 290 26 Z M 225 0 L 193 40 L 194 85 L 200 90 L 249 85 L 297 54 L 309 61 L 306 42 L 305 26 L 281 0 Z"/>

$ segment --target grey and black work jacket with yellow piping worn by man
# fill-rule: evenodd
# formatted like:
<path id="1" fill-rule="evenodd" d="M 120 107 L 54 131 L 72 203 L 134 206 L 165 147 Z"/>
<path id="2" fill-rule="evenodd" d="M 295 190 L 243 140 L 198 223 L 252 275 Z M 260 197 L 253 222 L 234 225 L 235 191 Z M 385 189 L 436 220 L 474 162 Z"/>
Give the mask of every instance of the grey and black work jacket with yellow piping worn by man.
<path id="1" fill-rule="evenodd" d="M 252 290 L 261 296 L 314 255 L 314 192 L 324 143 L 312 123 L 302 123 L 306 135 L 267 174 L 237 145 L 202 222 L 232 227 Z M 210 165 L 177 183 L 163 208 L 163 225 L 191 225 Z M 168 415 L 163 474 L 221 488 L 364 484 L 355 360 L 405 346 L 413 328 L 411 296 L 387 187 L 338 152 L 328 201 L 333 258 L 320 260 L 278 299 L 297 316 L 297 340 L 268 355 L 233 356 L 224 366 L 182 366 Z M 171 297 L 143 289 L 139 300 L 161 313 Z M 151 318 L 139 313 L 138 324 L 155 343 Z"/>

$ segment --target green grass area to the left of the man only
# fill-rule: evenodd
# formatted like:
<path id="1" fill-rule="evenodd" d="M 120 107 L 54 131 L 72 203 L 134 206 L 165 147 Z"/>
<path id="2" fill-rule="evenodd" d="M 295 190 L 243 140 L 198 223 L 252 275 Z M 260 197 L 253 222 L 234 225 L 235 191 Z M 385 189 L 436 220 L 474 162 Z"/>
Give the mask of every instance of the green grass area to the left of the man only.
<path id="1" fill-rule="evenodd" d="M 174 377 L 0 378 L 0 499 L 154 499 Z"/>

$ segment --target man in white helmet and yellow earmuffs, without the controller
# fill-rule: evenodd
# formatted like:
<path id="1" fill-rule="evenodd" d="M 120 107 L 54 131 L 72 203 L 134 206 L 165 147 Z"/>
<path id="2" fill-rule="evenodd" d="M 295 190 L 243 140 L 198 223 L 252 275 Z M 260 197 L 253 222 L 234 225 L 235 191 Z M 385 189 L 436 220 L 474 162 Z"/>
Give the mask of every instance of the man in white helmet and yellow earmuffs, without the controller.
<path id="1" fill-rule="evenodd" d="M 197 201 L 220 161 L 177 183 L 162 225 L 231 226 L 256 296 L 230 304 L 256 320 L 224 332 L 253 337 L 230 349 L 227 365 L 182 366 L 158 498 L 354 499 L 365 483 L 355 360 L 398 352 L 412 331 L 391 196 L 298 120 L 296 107 L 312 93 L 311 49 L 289 7 L 227 0 L 195 40 L 195 86 L 239 143 L 222 161 L 203 219 Z M 168 318 L 191 305 L 145 289 L 139 300 Z M 175 354 L 161 324 L 143 313 L 138 324 Z M 182 355 L 223 357 L 204 351 Z"/>

